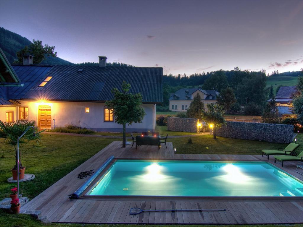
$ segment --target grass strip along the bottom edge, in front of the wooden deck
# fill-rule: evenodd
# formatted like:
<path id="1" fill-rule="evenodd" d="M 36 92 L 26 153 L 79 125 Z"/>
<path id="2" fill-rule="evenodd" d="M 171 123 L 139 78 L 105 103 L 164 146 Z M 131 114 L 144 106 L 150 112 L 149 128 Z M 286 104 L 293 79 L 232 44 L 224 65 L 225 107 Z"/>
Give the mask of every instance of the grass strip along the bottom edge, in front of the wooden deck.
<path id="1" fill-rule="evenodd" d="M 29 215 L 7 214 L 0 211 L 0 227 L 161 227 L 164 225 L 97 225 L 97 224 L 62 224 L 49 223 L 45 224 L 38 220 L 31 218 Z M 167 227 L 201 227 L 201 225 L 165 225 Z M 203 225 L 203 227 L 303 227 L 302 224 L 295 225 Z"/>

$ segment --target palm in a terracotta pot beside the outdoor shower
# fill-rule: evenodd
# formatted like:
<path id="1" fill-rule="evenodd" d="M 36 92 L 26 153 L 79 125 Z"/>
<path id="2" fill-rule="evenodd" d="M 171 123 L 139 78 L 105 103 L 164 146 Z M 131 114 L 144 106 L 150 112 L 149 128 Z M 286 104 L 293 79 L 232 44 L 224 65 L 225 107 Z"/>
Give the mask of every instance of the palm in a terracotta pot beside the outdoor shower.
<path id="1" fill-rule="evenodd" d="M 39 131 L 39 128 L 37 127 L 36 123 L 34 120 L 28 121 L 28 120 L 17 120 L 12 123 L 7 123 L 3 122 L 0 120 L 0 138 L 4 138 L 4 144 L 7 144 L 11 147 L 10 150 L 8 149 L 3 149 L 5 152 L 10 153 L 11 155 L 15 156 L 15 166 L 12 168 L 12 174 L 13 174 L 13 179 L 17 180 L 17 165 L 18 165 L 18 160 L 17 160 L 17 142 L 18 138 L 22 135 L 22 133 L 30 126 L 33 126 L 35 128 L 35 136 L 33 136 L 33 131 L 28 130 L 25 135 L 20 138 L 19 140 L 19 168 L 20 168 L 20 176 L 19 179 L 24 178 L 24 172 L 25 172 L 25 167 L 22 166 L 22 163 L 20 161 L 20 157 L 28 150 L 38 147 L 37 145 L 39 144 L 40 140 L 40 133 L 42 131 Z M 32 145 L 29 146 L 27 145 L 29 141 L 35 141 L 37 145 Z"/>

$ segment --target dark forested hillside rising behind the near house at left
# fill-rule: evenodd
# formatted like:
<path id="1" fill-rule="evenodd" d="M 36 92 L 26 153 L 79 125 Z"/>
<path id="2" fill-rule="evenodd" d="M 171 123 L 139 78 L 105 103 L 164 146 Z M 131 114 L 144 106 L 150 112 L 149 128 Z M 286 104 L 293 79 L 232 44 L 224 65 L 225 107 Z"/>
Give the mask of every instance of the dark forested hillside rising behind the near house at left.
<path id="1" fill-rule="evenodd" d="M 43 40 L 42 40 L 43 41 Z M 9 31 L 5 28 L 0 27 L 0 48 L 4 52 L 6 58 L 10 63 L 13 63 L 17 59 L 17 51 L 20 51 L 25 46 L 29 46 L 32 42 L 29 41 L 27 38 L 22 37 L 21 35 L 18 35 L 15 32 Z M 51 44 L 49 45 L 56 45 Z M 49 64 L 49 65 L 72 65 L 74 63 L 66 61 L 62 58 L 55 58 L 55 57 L 48 57 L 46 56 L 46 59 L 41 62 L 41 64 Z M 84 63 L 78 63 L 79 65 L 99 65 L 99 63 L 95 62 L 84 62 Z M 107 66 L 132 66 L 120 62 L 107 62 Z"/>

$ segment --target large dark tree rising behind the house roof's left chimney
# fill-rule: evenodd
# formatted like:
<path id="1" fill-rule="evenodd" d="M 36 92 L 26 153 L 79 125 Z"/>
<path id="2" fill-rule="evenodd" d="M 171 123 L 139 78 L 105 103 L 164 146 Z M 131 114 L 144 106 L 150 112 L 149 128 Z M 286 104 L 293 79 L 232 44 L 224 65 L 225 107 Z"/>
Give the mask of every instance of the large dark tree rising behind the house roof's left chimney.
<path id="1" fill-rule="evenodd" d="M 33 43 L 29 46 L 25 46 L 22 50 L 17 52 L 17 63 L 22 63 L 23 54 L 31 54 L 34 56 L 33 64 L 39 64 L 45 59 L 45 55 L 56 57 L 57 52 L 54 52 L 55 46 L 48 46 L 48 44 L 42 45 L 42 41 L 33 39 Z"/>

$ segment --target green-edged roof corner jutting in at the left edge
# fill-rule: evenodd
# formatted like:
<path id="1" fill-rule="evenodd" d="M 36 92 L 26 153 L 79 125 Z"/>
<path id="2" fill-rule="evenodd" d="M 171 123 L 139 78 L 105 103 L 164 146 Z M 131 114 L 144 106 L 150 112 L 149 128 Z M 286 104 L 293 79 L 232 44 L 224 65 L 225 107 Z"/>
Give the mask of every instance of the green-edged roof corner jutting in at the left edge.
<path id="1" fill-rule="evenodd" d="M 0 86 L 19 86 L 22 84 L 11 64 L 0 48 Z"/>

